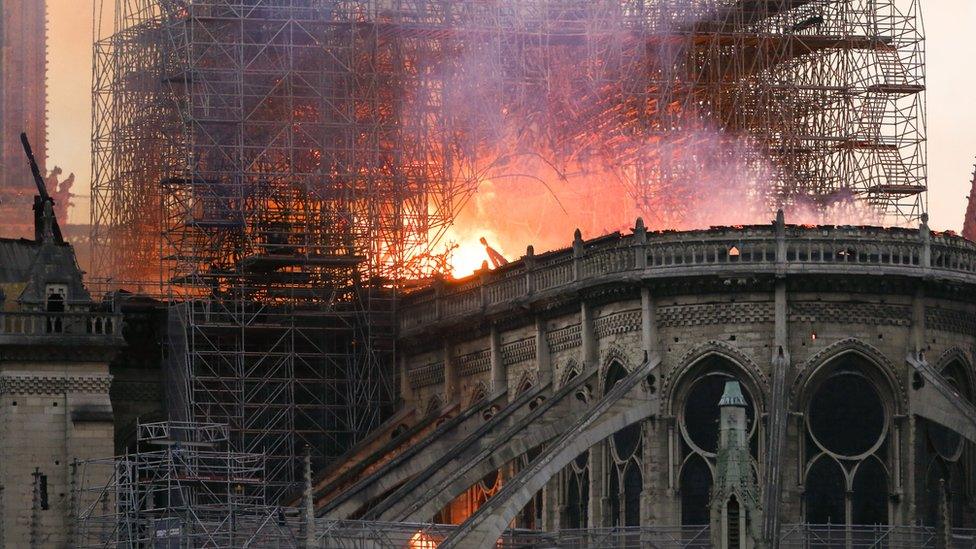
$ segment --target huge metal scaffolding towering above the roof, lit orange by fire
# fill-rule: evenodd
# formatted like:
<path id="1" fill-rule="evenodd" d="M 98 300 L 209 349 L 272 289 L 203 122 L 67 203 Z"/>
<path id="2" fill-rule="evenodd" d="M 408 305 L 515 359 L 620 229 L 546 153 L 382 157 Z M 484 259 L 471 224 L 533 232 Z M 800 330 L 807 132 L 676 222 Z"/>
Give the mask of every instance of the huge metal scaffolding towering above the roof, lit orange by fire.
<path id="1" fill-rule="evenodd" d="M 718 156 L 770 210 L 925 208 L 917 0 L 103 2 L 96 280 L 179 303 L 175 416 L 282 491 L 392 405 L 397 287 L 485 180 L 612 178 L 679 227 Z"/>

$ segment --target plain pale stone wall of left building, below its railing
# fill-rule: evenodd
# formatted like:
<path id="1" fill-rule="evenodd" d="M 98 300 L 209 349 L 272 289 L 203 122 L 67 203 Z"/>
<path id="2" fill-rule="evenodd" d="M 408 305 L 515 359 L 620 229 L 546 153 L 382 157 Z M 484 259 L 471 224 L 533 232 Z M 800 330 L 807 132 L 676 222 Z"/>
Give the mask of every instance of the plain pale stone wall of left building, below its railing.
<path id="1" fill-rule="evenodd" d="M 0 516 L 6 547 L 70 547 L 72 462 L 113 454 L 106 363 L 0 362 Z M 47 483 L 48 508 L 35 490 Z"/>

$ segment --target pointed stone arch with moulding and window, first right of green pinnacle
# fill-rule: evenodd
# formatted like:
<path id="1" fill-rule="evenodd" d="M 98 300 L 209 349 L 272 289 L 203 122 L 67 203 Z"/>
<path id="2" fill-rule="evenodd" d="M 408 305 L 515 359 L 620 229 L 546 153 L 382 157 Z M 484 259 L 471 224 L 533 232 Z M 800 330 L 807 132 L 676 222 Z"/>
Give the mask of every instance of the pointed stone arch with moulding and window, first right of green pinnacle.
<path id="1" fill-rule="evenodd" d="M 856 338 L 828 345 L 803 365 L 791 387 L 803 414 L 804 520 L 887 524 L 891 513 L 894 417 L 907 396 L 891 361 Z"/>

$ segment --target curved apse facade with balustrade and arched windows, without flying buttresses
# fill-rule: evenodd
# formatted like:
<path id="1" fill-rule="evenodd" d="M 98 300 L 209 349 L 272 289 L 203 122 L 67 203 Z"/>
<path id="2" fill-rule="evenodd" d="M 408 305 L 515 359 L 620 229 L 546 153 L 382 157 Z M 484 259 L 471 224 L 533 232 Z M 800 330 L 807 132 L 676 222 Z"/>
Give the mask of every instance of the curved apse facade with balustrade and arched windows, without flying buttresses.
<path id="1" fill-rule="evenodd" d="M 974 318 L 976 245 L 924 224 L 648 233 L 638 223 L 633 235 L 577 239 L 409 296 L 401 396 L 421 411 L 463 409 L 502 390 L 509 402 L 545 383 L 552 394 L 595 369 L 587 390 L 598 399 L 615 368 L 660 360 L 647 382 L 659 412 L 633 441 L 615 434 L 549 471 L 518 514 L 525 527 L 707 524 L 713 393 L 728 380 L 749 401 L 767 535 L 805 522 L 927 524 L 940 482 L 953 526 L 971 527 L 974 446 L 923 417 L 906 357 L 924 357 L 968 406 Z M 524 466 L 503 468 L 502 482 Z"/>

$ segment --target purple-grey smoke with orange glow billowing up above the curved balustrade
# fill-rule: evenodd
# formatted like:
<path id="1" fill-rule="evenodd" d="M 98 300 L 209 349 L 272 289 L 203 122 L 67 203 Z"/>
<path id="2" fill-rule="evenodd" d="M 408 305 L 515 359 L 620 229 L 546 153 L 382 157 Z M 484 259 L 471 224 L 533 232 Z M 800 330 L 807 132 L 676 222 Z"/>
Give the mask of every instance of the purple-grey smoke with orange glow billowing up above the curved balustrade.
<path id="1" fill-rule="evenodd" d="M 627 230 L 638 216 L 676 230 L 767 223 L 777 208 L 795 223 L 880 221 L 848 191 L 784 195 L 781 183 L 799 176 L 718 122 L 734 118 L 732 99 L 695 90 L 691 52 L 674 39 L 712 3 L 647 8 L 653 47 L 634 40 L 624 3 L 503 3 L 505 32 L 474 16 L 460 24 L 456 58 L 428 68 L 443 82 L 440 130 L 458 190 L 454 224 L 438 235 L 456 275 L 486 258 L 482 236 L 511 259 L 528 245 L 566 247 L 577 228 L 586 238 Z"/>

